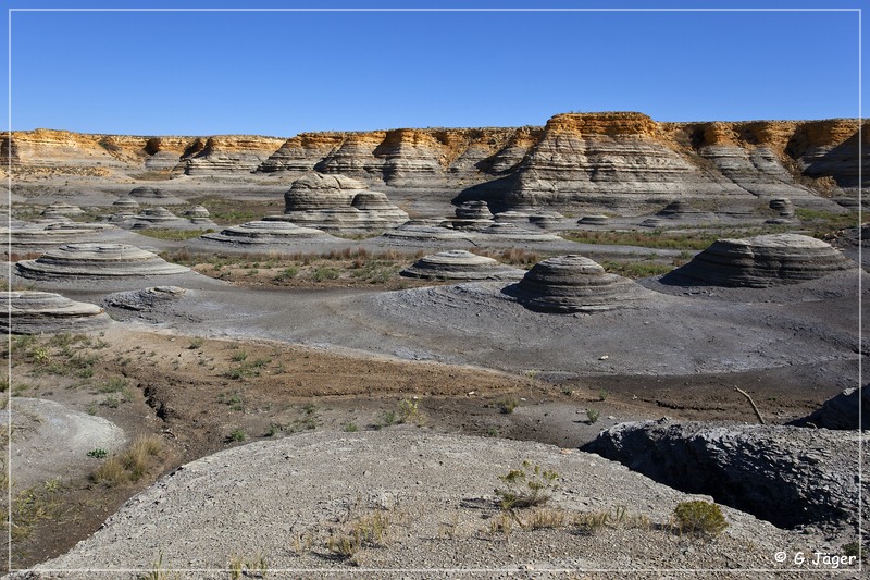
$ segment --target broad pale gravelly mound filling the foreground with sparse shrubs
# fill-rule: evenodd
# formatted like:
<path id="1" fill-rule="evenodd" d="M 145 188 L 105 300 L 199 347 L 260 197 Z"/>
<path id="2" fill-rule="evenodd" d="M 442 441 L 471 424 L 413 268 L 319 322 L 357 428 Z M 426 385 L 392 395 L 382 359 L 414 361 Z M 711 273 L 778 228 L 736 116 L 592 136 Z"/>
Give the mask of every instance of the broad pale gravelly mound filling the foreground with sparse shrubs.
<path id="1" fill-rule="evenodd" d="M 161 575 L 216 579 L 228 577 L 234 557 L 264 558 L 270 578 L 508 578 L 552 568 L 607 568 L 625 577 L 638 567 L 772 567 L 775 551 L 811 539 L 729 508 L 729 527 L 712 542 L 683 542 L 649 526 L 604 527 L 589 535 L 570 526 L 518 527 L 506 538 L 494 490 L 504 489 L 499 477 L 523 461 L 558 473 L 548 506 L 569 516 L 622 506 L 667 523 L 678 503 L 700 498 L 600 457 L 537 443 L 414 427 L 318 431 L 187 464 L 129 499 L 67 554 L 14 577 L 89 578 L 101 568 L 112 578 L 141 578 L 160 559 Z M 380 542 L 350 560 L 328 550 L 331 536 L 375 515 L 385 522 Z"/>

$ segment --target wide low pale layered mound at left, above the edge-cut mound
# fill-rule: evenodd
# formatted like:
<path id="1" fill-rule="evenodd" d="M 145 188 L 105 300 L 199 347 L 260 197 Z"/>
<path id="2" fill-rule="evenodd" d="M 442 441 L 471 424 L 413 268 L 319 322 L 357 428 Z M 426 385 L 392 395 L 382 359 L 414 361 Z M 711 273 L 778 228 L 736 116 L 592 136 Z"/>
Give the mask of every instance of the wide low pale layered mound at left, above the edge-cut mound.
<path id="1" fill-rule="evenodd" d="M 16 264 L 30 279 L 119 277 L 182 274 L 190 269 L 127 244 L 65 244 Z"/>

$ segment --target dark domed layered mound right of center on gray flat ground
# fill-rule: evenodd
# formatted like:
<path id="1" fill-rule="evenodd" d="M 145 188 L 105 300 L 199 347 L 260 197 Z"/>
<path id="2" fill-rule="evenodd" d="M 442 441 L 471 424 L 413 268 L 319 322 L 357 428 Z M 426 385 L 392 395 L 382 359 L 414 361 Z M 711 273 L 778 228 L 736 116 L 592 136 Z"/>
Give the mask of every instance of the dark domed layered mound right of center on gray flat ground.
<path id="1" fill-rule="evenodd" d="M 544 312 L 611 310 L 649 295 L 633 281 L 609 274 L 599 263 L 577 255 L 540 261 L 504 292 L 526 308 Z"/>

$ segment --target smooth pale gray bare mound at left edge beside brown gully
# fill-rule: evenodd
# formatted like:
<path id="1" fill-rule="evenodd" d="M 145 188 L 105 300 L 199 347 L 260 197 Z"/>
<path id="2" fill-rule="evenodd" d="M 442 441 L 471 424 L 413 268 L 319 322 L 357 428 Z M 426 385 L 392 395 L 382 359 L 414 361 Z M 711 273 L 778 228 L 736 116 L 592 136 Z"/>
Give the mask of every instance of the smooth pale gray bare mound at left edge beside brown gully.
<path id="1" fill-rule="evenodd" d="M 16 489 L 86 476 L 99 465 L 88 452 L 101 448 L 111 453 L 126 442 L 124 431 L 107 419 L 53 400 L 12 397 L 10 409 L 12 483 Z M 7 412 L 0 414 L 3 431 L 8 419 Z"/>

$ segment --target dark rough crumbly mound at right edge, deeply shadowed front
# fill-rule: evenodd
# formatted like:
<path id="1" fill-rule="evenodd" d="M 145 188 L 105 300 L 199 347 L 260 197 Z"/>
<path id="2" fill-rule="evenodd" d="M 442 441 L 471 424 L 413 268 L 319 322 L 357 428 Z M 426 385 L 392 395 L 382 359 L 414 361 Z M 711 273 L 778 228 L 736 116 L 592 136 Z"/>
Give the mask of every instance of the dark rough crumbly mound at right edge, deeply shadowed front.
<path id="1" fill-rule="evenodd" d="M 583 448 L 780 527 L 857 530 L 859 445 L 858 432 L 660 419 L 618 424 Z"/>

